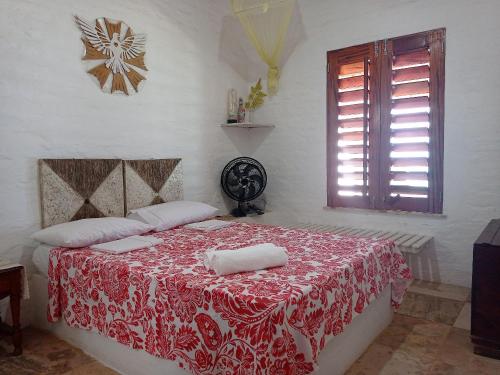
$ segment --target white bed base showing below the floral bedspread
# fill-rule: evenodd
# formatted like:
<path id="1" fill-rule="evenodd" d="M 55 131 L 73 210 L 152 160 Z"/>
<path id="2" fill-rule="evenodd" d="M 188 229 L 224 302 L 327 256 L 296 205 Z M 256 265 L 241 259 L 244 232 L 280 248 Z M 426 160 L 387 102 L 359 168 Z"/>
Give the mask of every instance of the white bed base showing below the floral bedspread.
<path id="1" fill-rule="evenodd" d="M 82 349 L 106 366 L 125 375 L 186 375 L 175 362 L 134 350 L 97 333 L 71 328 L 64 322 L 49 323 L 47 311 L 47 278 L 32 277 L 33 325 L 48 330 L 59 338 Z M 319 357 L 318 375 L 341 375 L 356 361 L 370 343 L 392 321 L 391 287 L 366 310 L 353 319 L 344 332 L 333 337 Z"/>

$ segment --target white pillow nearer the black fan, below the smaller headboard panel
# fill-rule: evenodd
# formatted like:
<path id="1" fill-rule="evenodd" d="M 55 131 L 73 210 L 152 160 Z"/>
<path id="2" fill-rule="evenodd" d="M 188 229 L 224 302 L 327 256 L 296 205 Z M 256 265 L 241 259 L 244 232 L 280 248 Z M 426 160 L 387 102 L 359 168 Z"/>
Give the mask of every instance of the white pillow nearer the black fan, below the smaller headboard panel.
<path id="1" fill-rule="evenodd" d="M 217 208 L 201 202 L 175 201 L 131 210 L 127 217 L 150 224 L 155 232 L 160 232 L 206 220 L 217 211 Z"/>

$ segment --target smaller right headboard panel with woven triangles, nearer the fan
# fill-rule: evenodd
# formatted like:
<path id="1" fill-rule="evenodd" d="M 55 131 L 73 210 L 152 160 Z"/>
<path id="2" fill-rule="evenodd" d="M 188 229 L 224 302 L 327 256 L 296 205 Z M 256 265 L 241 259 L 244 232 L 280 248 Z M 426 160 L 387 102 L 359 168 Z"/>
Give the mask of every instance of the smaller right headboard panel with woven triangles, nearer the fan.
<path id="1" fill-rule="evenodd" d="M 181 159 L 124 160 L 126 211 L 183 199 Z"/>

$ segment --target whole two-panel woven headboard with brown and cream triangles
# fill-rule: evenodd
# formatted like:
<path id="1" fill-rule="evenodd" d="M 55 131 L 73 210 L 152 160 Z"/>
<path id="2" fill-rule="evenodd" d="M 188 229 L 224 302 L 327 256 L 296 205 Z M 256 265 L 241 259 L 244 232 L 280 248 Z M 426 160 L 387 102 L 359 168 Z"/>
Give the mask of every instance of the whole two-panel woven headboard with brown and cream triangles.
<path id="1" fill-rule="evenodd" d="M 183 198 L 181 159 L 41 159 L 42 227 Z"/>

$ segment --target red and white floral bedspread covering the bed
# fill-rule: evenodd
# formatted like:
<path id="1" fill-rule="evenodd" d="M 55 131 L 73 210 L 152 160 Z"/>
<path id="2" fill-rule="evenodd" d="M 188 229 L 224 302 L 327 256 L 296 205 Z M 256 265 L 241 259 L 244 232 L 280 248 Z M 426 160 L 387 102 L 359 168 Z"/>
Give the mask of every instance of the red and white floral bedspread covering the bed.
<path id="1" fill-rule="evenodd" d="M 48 319 L 63 317 L 194 374 L 308 374 L 320 350 L 392 283 L 396 307 L 411 278 L 389 241 L 234 224 L 177 228 L 156 250 L 121 255 L 54 249 Z M 218 277 L 207 249 L 272 242 L 287 266 Z"/>

